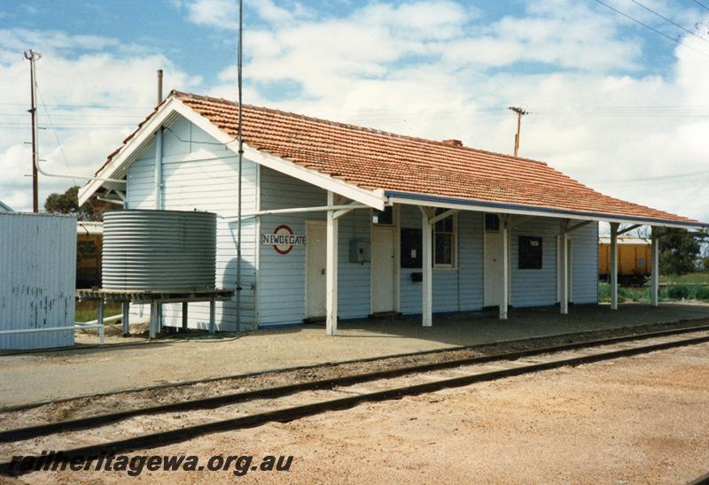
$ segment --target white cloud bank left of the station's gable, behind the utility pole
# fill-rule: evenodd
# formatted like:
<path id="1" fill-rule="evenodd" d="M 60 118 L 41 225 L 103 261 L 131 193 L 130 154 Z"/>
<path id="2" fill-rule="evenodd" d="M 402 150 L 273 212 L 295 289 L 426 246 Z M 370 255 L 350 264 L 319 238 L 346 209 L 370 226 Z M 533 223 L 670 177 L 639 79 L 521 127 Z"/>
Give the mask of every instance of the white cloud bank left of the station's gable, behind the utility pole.
<path id="1" fill-rule="evenodd" d="M 21 48 L 20 48 L 21 46 Z M 0 103 L 4 136 L 0 138 L 0 200 L 16 210 L 29 210 L 31 154 L 29 129 L 29 63 L 22 50 L 32 46 L 43 52 L 37 61 L 38 85 L 48 107 L 68 166 L 51 129 L 40 130 L 43 170 L 90 176 L 119 146 L 155 99 L 156 70 L 165 71 L 166 86 L 195 89 L 201 80 L 183 73 L 168 58 L 127 55 L 113 39 L 27 30 L 0 33 Z M 76 55 L 77 50 L 86 53 Z M 109 49 L 112 48 L 112 49 Z M 72 54 L 66 56 L 66 54 Z M 58 105 L 58 106 L 57 106 Z M 98 107 L 92 107 L 98 106 Z M 116 108 L 106 108 L 113 106 Z M 50 127 L 42 105 L 40 126 Z M 75 181 L 82 184 L 81 179 Z M 74 181 L 40 176 L 40 203 L 51 191 L 65 190 Z"/>

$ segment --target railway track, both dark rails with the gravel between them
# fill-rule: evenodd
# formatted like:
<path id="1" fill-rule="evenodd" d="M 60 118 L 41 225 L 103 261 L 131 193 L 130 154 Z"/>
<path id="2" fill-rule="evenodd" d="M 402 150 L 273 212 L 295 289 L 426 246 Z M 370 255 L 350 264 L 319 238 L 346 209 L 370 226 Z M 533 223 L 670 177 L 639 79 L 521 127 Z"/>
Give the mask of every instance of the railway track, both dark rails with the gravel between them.
<path id="1" fill-rule="evenodd" d="M 707 342 L 709 326 L 687 327 L 407 366 L 12 429 L 0 432 L 0 473 L 13 473 L 12 456 L 38 456 L 41 450 L 64 450 L 67 457 L 143 450 L 208 433 L 347 409 L 364 402 Z M 120 427 L 115 426 L 118 422 Z"/>

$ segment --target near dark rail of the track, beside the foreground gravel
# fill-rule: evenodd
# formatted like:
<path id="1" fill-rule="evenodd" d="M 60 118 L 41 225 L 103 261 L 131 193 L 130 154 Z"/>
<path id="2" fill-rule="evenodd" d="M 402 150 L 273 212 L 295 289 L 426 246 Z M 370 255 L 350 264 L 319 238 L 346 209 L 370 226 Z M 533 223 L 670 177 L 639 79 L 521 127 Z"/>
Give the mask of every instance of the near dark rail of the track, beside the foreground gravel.
<path id="1" fill-rule="evenodd" d="M 61 454 L 63 457 L 66 458 L 98 458 L 100 456 L 110 456 L 115 455 L 119 452 L 129 452 L 132 450 L 150 449 L 159 446 L 166 446 L 168 444 L 182 443 L 184 441 L 198 437 L 199 435 L 205 435 L 208 433 L 223 432 L 246 427 L 256 427 L 271 421 L 287 422 L 291 420 L 297 420 L 300 418 L 313 416 L 321 412 L 348 409 L 356 404 L 361 404 L 364 402 L 385 401 L 388 399 L 399 398 L 401 396 L 416 396 L 428 392 L 434 392 L 440 389 L 466 386 L 476 382 L 495 381 L 497 379 L 502 379 L 506 377 L 517 376 L 526 373 L 537 373 L 540 371 L 563 366 L 579 366 L 581 364 L 590 364 L 603 360 L 610 360 L 613 358 L 630 357 L 656 350 L 666 350 L 674 347 L 682 347 L 707 342 L 709 342 L 709 335 L 673 342 L 654 343 L 651 345 L 644 345 L 631 349 L 611 350 L 598 354 L 552 360 L 549 362 L 531 364 L 529 366 L 519 366 L 487 373 L 470 374 L 462 377 L 454 377 L 451 379 L 443 379 L 440 381 L 431 381 L 422 384 L 415 384 L 403 388 L 385 389 L 361 395 L 339 397 L 327 401 L 321 401 L 318 403 L 297 405 L 276 411 L 262 412 L 249 416 L 243 416 L 240 418 L 233 418 L 229 420 L 217 420 L 191 427 L 160 431 L 150 435 L 135 436 L 132 438 L 127 438 L 124 440 L 109 443 L 99 443 L 95 445 L 84 446 L 81 448 L 75 448 L 73 450 L 64 450 L 61 452 Z M 12 461 L 0 463 L 0 474 L 19 475 L 22 473 L 30 473 L 33 471 L 15 469 L 17 465 L 17 463 L 12 463 Z"/>

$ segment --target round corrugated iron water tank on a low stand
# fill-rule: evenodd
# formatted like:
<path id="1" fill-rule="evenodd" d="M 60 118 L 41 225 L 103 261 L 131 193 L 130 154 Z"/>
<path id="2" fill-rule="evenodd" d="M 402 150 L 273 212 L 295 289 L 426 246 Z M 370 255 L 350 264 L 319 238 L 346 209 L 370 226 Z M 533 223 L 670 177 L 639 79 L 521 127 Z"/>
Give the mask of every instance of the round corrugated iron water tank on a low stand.
<path id="1" fill-rule="evenodd" d="M 216 214 L 105 212 L 104 289 L 214 289 L 215 272 Z"/>

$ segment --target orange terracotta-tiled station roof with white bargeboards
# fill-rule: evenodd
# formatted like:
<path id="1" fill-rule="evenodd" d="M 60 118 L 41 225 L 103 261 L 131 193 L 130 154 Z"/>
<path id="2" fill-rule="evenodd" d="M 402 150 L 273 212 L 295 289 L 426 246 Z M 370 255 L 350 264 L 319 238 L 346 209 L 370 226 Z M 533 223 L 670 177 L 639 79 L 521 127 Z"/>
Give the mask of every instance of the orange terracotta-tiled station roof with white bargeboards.
<path id="1" fill-rule="evenodd" d="M 121 166 L 125 166 L 127 158 L 121 152 L 129 148 L 130 142 L 152 119 L 169 111 L 170 106 L 171 111 L 191 119 L 237 150 L 238 104 L 172 91 L 124 145 L 109 156 L 97 176 L 121 176 Z M 167 114 L 163 113 L 162 118 L 167 119 Z M 243 106 L 243 139 L 249 149 L 246 158 L 266 156 L 272 162 L 278 160 L 290 167 L 285 173 L 298 176 L 293 172 L 298 168 L 302 173 L 319 176 L 312 180 L 303 177 L 304 180 L 338 181 L 342 187 L 381 199 L 381 204 L 361 200 L 371 206 L 400 202 L 658 226 L 709 226 L 605 196 L 538 160 L 477 150 L 450 141 L 395 135 L 248 104 Z M 114 163 L 121 155 L 124 155 L 122 163 Z M 277 165 L 271 166 L 279 170 Z M 82 201 L 101 185 L 100 181 L 93 181 L 84 186 L 80 192 Z M 327 189 L 338 192 L 337 187 Z"/>

